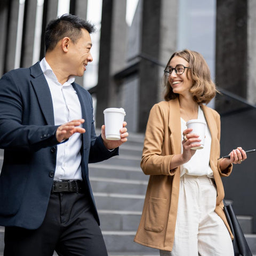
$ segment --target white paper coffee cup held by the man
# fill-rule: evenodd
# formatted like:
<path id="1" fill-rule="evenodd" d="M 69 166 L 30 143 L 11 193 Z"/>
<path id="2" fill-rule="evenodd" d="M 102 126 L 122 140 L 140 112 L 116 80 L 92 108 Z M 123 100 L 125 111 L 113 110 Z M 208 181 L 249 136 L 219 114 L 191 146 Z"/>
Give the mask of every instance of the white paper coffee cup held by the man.
<path id="1" fill-rule="evenodd" d="M 105 135 L 107 140 L 119 140 L 120 129 L 123 128 L 125 111 L 123 108 L 106 108 L 103 111 Z"/>

